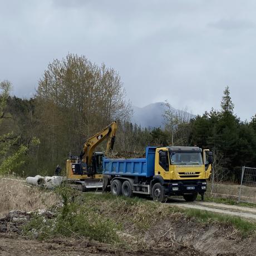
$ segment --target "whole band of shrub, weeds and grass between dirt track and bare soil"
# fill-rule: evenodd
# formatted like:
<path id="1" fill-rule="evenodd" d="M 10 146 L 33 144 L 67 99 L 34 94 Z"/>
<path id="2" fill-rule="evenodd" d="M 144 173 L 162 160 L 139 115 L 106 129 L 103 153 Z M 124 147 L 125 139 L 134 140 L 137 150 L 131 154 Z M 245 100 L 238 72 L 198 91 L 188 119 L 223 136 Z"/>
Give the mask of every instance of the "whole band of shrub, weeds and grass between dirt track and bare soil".
<path id="1" fill-rule="evenodd" d="M 160 221 L 168 219 L 170 225 L 176 219 L 186 218 L 187 223 L 226 225 L 237 230 L 242 237 L 256 232 L 256 223 L 238 217 L 210 213 L 203 210 L 181 209 L 171 204 L 161 204 L 141 198 L 115 197 L 111 194 L 79 193 L 58 188 L 63 207 L 58 208 L 55 218 L 45 219 L 35 215 L 23 227 L 25 234 L 38 239 L 86 237 L 100 242 L 125 244 L 122 233 L 132 234 L 135 240 L 143 240 L 145 234 Z M 185 223 L 184 223 L 185 225 Z"/>

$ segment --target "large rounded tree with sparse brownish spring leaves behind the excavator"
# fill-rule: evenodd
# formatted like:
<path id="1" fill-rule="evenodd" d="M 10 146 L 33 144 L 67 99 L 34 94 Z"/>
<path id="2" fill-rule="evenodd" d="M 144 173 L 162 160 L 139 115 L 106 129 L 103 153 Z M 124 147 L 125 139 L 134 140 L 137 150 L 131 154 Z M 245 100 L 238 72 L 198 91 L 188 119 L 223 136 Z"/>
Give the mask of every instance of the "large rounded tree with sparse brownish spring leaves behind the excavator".
<path id="1" fill-rule="evenodd" d="M 129 119 L 131 105 L 125 97 L 119 73 L 104 63 L 99 66 L 71 53 L 50 63 L 36 92 L 37 131 L 46 167 L 65 164 L 68 154 L 79 155 L 95 132 L 114 120 Z"/>

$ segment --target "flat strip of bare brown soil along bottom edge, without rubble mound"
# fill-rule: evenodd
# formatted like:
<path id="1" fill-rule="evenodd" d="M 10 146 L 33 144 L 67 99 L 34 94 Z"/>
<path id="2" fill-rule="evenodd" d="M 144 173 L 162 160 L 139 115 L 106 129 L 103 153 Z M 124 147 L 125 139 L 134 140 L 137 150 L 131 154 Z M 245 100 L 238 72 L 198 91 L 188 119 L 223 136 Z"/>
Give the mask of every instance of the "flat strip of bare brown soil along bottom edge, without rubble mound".
<path id="1" fill-rule="evenodd" d="M 152 248 L 132 251 L 125 248 L 115 247 L 111 244 L 99 243 L 93 240 L 81 239 L 54 239 L 40 242 L 38 240 L 27 240 L 16 234 L 0 233 L 0 255 L 3 256 L 25 256 L 25 255 L 170 255 L 170 256 L 205 256 L 203 252 L 193 247 L 180 246 L 172 248 Z"/>

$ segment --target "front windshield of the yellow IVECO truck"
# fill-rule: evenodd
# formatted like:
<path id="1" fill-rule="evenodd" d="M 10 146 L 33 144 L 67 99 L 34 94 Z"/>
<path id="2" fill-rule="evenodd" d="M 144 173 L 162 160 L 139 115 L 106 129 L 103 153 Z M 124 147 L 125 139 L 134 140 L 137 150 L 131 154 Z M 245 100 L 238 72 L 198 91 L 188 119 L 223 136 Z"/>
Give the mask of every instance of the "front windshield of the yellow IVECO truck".
<path id="1" fill-rule="evenodd" d="M 170 160 L 173 165 L 203 164 L 200 152 L 170 152 Z"/>

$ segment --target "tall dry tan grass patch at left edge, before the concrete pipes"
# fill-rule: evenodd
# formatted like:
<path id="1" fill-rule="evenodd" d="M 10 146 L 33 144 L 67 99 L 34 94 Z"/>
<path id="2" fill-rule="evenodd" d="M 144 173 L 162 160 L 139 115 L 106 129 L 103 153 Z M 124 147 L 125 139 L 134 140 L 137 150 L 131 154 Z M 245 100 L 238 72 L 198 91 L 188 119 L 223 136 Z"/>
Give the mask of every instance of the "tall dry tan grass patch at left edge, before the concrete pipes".
<path id="1" fill-rule="evenodd" d="M 45 209 L 57 202 L 53 191 L 27 186 L 22 179 L 0 178 L 0 218 L 11 210 Z"/>

